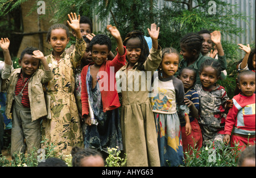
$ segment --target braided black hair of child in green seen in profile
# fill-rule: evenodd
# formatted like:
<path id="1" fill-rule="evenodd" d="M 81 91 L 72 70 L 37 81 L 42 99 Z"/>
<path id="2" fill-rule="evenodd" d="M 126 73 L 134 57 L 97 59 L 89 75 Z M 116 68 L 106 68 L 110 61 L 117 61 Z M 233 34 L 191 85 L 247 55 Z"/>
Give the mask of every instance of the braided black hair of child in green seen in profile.
<path id="1" fill-rule="evenodd" d="M 196 33 L 189 33 L 180 40 L 180 46 L 188 49 L 188 51 L 193 51 L 195 49 L 197 53 L 200 53 L 203 40 L 203 36 Z"/>

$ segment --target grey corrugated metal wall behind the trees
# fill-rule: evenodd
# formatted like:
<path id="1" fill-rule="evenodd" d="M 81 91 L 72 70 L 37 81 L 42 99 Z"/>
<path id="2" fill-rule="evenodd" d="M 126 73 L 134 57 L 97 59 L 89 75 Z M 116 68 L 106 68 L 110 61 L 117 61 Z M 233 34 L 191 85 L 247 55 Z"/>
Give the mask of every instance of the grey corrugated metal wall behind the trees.
<path id="1" fill-rule="evenodd" d="M 242 20 L 237 20 L 237 26 L 245 29 L 244 34 L 231 36 L 224 36 L 225 40 L 233 41 L 234 43 L 242 44 L 255 44 L 255 0 L 223 0 L 232 5 L 237 5 L 240 13 L 244 13 L 246 16 L 251 16 L 252 19 L 248 19 L 249 22 L 243 22 Z M 164 0 L 158 1 L 158 7 L 161 9 L 164 5 L 171 6 L 172 2 L 167 2 Z M 233 10 L 234 11 L 234 10 Z M 235 11 L 234 11 L 235 13 Z M 104 28 L 108 24 L 109 20 L 106 22 L 98 22 L 97 16 L 93 18 L 93 29 L 94 31 L 104 31 Z"/>

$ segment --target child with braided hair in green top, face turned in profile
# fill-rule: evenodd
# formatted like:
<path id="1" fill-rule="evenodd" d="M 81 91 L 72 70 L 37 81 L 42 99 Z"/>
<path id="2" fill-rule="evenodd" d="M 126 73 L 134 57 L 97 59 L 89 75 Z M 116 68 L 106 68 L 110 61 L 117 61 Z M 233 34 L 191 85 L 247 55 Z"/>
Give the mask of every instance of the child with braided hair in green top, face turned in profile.
<path id="1" fill-rule="evenodd" d="M 211 39 L 212 42 L 216 44 L 216 46 L 221 45 L 221 36 L 219 33 L 212 34 Z M 203 40 L 204 38 L 198 34 L 187 34 L 181 39 L 180 55 L 182 55 L 184 59 L 180 61 L 179 68 L 175 76 L 178 76 L 180 74 L 181 69 L 183 69 L 184 67 L 191 67 L 196 69 L 197 71 L 195 83 L 200 84 L 198 70 L 200 69 L 201 64 L 206 59 L 212 59 L 212 57 L 203 56 L 201 54 Z M 218 53 L 218 62 L 221 64 L 221 71 L 225 70 L 227 64 L 224 53 Z"/>

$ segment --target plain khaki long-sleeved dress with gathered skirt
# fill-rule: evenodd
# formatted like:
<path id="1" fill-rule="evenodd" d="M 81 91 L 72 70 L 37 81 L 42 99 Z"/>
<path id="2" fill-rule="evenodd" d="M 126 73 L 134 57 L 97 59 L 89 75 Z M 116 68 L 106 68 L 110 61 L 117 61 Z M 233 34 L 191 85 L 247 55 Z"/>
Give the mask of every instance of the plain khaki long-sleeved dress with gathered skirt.
<path id="1" fill-rule="evenodd" d="M 143 64 L 145 71 L 139 71 L 138 64 L 129 71 L 127 65 L 119 70 L 118 86 L 122 90 L 121 130 L 127 166 L 160 166 L 148 88 L 151 85 L 150 78 L 161 62 L 161 54 L 160 49 L 150 50 L 150 55 Z"/>

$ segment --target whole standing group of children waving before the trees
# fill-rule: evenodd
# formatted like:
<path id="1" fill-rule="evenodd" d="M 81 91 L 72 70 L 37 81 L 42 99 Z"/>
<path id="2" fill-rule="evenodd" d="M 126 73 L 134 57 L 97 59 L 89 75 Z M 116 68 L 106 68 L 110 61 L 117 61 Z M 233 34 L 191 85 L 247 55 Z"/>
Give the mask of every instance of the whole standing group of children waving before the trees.
<path id="1" fill-rule="evenodd" d="M 141 31 L 122 41 L 109 25 L 117 42 L 114 56 L 110 38 L 92 34 L 88 18 L 73 13 L 68 18 L 76 44 L 65 49 L 68 27 L 53 24 L 47 34 L 51 54 L 26 48 L 19 69 L 12 68 L 9 39 L 0 41 L 12 155 L 26 146 L 28 152 L 40 148 L 44 138 L 60 154 L 74 147 L 102 154 L 118 147 L 127 166 L 177 166 L 190 147 L 255 144 L 255 49 L 240 44 L 246 51 L 238 70 L 240 93 L 229 100 L 216 84 L 225 80 L 227 68 L 219 31 L 187 34 L 179 53 L 160 47 L 156 24 L 148 28 L 152 48 Z"/>

